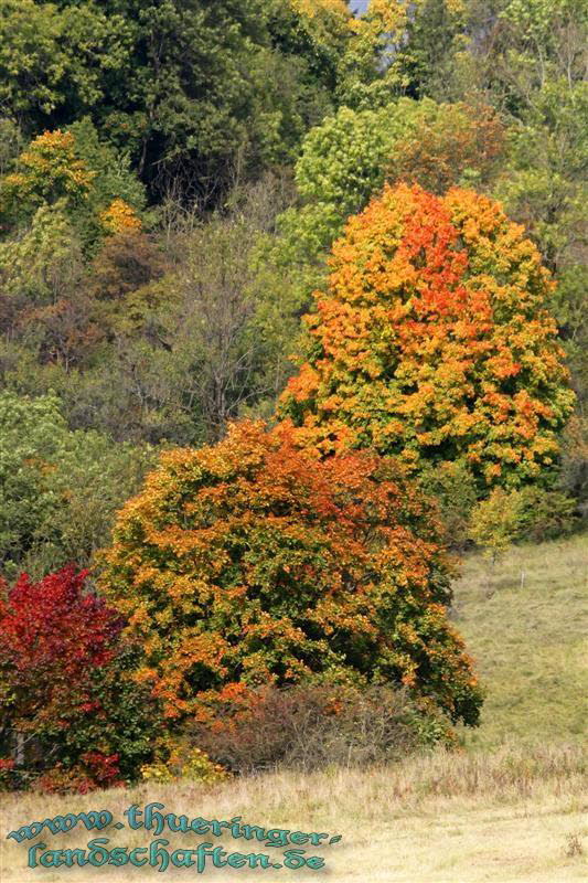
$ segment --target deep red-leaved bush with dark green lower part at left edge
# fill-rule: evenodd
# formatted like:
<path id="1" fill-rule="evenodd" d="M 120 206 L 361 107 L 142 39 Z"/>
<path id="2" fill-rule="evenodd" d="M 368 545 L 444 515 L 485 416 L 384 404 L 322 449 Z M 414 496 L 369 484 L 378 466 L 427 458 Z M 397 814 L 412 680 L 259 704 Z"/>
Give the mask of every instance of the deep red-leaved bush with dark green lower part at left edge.
<path id="1" fill-rule="evenodd" d="M 73 566 L 0 594 L 0 736 L 13 787 L 89 790 L 133 778 L 158 733 L 154 703 L 128 677 L 124 621 Z"/>

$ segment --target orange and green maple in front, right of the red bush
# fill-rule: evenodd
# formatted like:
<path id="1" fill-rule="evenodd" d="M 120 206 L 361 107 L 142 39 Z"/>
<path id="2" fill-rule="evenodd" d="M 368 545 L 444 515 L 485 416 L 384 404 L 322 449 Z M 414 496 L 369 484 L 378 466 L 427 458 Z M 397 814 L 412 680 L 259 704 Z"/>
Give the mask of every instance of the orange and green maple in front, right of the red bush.
<path id="1" fill-rule="evenodd" d="M 447 621 L 451 562 L 392 459 L 317 461 L 287 425 L 235 424 L 162 455 L 121 510 L 103 589 L 145 648 L 171 721 L 261 685 L 393 682 L 474 724 L 481 694 Z"/>

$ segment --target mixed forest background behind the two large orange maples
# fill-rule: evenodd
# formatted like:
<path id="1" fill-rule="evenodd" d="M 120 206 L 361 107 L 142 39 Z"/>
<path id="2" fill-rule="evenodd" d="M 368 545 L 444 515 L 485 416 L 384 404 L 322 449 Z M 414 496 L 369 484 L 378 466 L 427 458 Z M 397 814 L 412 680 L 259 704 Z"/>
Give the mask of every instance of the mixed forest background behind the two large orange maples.
<path id="1" fill-rule="evenodd" d="M 272 414 L 331 243 L 398 179 L 536 243 L 582 506 L 584 26 L 567 0 L 3 2 L 4 575 L 86 565 L 161 446 Z"/>

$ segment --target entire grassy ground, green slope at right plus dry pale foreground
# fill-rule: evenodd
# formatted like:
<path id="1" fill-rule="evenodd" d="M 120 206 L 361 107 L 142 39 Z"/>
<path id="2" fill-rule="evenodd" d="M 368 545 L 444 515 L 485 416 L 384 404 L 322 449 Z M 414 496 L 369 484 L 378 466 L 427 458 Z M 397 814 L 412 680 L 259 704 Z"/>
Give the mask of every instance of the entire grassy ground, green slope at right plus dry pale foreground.
<path id="1" fill-rule="evenodd" d="M 143 785 L 74 798 L 4 796 L 0 813 L 2 883 L 196 877 L 146 869 L 29 871 L 26 845 L 6 833 L 33 819 L 107 807 L 115 820 L 151 800 L 193 818 L 343 834 L 316 849 L 327 871 L 207 869 L 203 880 L 332 880 L 333 883 L 565 883 L 586 879 L 588 825 L 582 726 L 586 538 L 513 550 L 494 568 L 469 557 L 457 585 L 455 617 L 483 675 L 483 722 L 457 754 L 438 752 L 368 772 L 267 774 L 214 788 Z M 521 573 L 525 576 L 522 581 Z M 43 837 L 51 848 L 83 847 L 96 834 Z M 148 845 L 146 831 L 107 830 L 111 844 Z M 171 849 L 202 838 L 168 834 Z M 209 838 L 226 849 L 244 841 Z M 264 848 L 252 843 L 252 850 Z M 267 850 L 266 850 L 267 851 Z M 269 850 L 271 852 L 271 850 Z M 278 852 L 275 851 L 276 858 Z M 199 877 L 200 879 L 200 877 Z"/>

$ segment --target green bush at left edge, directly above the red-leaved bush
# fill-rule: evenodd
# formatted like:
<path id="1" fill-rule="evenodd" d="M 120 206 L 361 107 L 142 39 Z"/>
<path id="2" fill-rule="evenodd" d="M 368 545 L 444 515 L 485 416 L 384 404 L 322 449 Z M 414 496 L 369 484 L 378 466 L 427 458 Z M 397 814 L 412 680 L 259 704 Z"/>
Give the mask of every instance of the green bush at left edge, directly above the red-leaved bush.
<path id="1" fill-rule="evenodd" d="M 71 432 L 54 395 L 0 393 L 0 574 L 88 564 L 149 461 L 146 447 Z"/>

